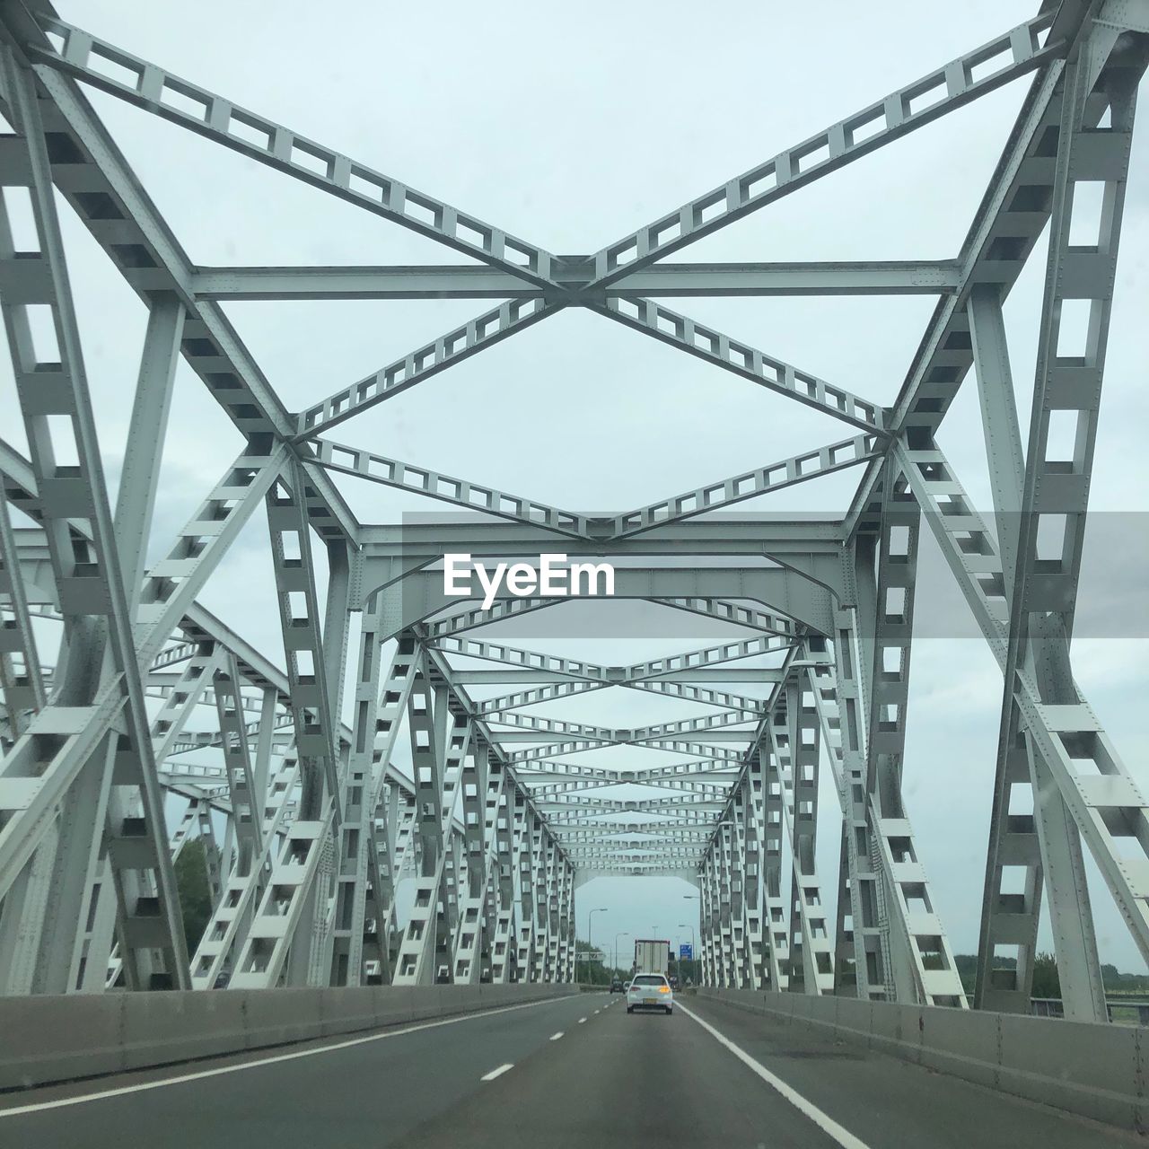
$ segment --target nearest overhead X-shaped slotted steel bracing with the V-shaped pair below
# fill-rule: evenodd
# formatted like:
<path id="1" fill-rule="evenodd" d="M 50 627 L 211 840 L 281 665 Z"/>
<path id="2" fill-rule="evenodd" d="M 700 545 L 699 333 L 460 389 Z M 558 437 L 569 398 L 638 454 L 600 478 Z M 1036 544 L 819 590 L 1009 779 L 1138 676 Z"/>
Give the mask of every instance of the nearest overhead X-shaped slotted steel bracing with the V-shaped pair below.
<path id="1" fill-rule="evenodd" d="M 304 440 L 315 439 L 329 427 L 566 307 L 585 307 L 625 323 L 867 432 L 866 438 L 831 445 L 619 516 L 612 524 L 603 524 L 606 535 L 610 537 L 641 530 L 651 522 L 672 522 L 688 514 L 701 514 L 864 462 L 873 456 L 878 441 L 888 435 L 880 404 L 764 355 L 649 298 L 623 293 L 627 277 L 643 272 L 664 256 L 840 170 L 885 144 L 933 123 L 979 95 L 1041 68 L 1064 52 L 1065 38 L 1073 31 L 1066 24 L 1065 20 L 1058 24 L 1051 14 L 1042 13 L 680 209 L 608 244 L 589 257 L 556 256 L 54 17 L 43 21 L 48 40 L 33 45 L 30 52 L 41 68 L 46 65 L 84 79 L 313 187 L 473 256 L 510 282 L 537 293 L 516 293 L 515 298 L 300 412 L 296 434 Z M 948 288 L 948 279 L 939 276 L 936 286 Z M 441 298 L 441 293 L 437 298 Z M 408 468 L 357 448 L 322 440 L 317 447 L 319 460 L 334 469 L 422 489 L 432 498 L 480 507 L 492 514 L 525 517 L 533 512 L 557 533 L 586 530 L 585 516 L 541 507 L 520 496 L 504 495 L 421 468 Z"/>

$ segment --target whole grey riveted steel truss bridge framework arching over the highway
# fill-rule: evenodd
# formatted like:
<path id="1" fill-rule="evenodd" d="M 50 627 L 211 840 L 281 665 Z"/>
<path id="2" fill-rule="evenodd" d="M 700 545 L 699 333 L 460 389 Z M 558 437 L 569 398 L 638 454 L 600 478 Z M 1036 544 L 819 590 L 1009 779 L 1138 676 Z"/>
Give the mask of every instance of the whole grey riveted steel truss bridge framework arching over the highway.
<path id="1" fill-rule="evenodd" d="M 1086 853 L 1149 957 L 1149 807 L 1074 684 L 1070 646 L 1149 5 L 1046 2 L 588 256 L 552 254 L 39 0 L 8 0 L 0 13 L 0 310 L 29 444 L 26 455 L 0 444 L 0 992 L 569 980 L 581 881 L 676 874 L 701 892 L 712 985 L 1027 1011 L 1044 900 L 1066 1016 L 1105 1018 Z M 951 259 L 676 262 L 1020 77 L 1024 105 Z M 193 265 L 88 88 L 470 262 Z M 1070 234 L 1087 182 L 1101 186 L 1102 208 L 1094 241 L 1080 246 Z M 149 310 L 115 499 L 61 201 Z M 1002 304 L 1046 231 L 1023 444 Z M 663 302 L 889 293 L 928 293 L 936 306 L 888 407 Z M 238 299 L 493 302 L 291 411 L 224 316 L 221 301 Z M 842 437 L 594 516 L 342 440 L 363 411 L 568 308 L 832 416 Z M 1072 345 L 1062 321 L 1081 308 L 1088 322 Z M 245 446 L 148 568 L 179 356 Z M 977 388 L 985 431 L 994 504 L 984 512 L 935 438 L 963 384 Z M 1051 435 L 1065 423 L 1067 448 Z M 858 485 L 835 520 L 728 514 L 846 468 Z M 337 473 L 461 510 L 449 523 L 361 523 Z M 260 514 L 286 673 L 282 651 L 254 649 L 196 601 Z M 925 532 L 1004 683 L 972 1002 L 902 797 Z M 622 666 L 543 655 L 500 641 L 498 624 L 563 604 L 503 589 L 484 610 L 446 597 L 434 565 L 446 552 L 557 550 L 618 560 L 617 595 L 662 604 L 669 619 L 688 611 L 749 637 Z M 317 562 L 330 572 L 324 601 Z M 468 693 L 495 684 L 506 693 Z M 745 684 L 753 696 L 734 693 Z M 681 700 L 689 716 L 619 730 L 537 710 L 607 687 Z M 409 769 L 396 765 L 401 740 Z M 629 747 L 666 751 L 668 764 L 627 766 Z M 840 803 L 836 874 L 815 864 L 823 766 Z M 609 796 L 618 786 L 647 796 Z M 214 905 L 188 954 L 173 859 L 194 840 Z M 400 927 L 403 879 L 415 899 Z"/>

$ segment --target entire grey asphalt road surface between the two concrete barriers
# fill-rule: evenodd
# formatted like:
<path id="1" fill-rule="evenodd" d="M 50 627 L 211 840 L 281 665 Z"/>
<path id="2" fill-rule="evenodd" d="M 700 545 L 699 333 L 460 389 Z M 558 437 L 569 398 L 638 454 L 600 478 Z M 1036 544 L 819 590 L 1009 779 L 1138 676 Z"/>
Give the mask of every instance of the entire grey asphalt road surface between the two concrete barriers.
<path id="1" fill-rule="evenodd" d="M 1106 1149 L 1054 1109 L 680 997 L 557 1001 L 0 1096 L 0 1149 Z"/>

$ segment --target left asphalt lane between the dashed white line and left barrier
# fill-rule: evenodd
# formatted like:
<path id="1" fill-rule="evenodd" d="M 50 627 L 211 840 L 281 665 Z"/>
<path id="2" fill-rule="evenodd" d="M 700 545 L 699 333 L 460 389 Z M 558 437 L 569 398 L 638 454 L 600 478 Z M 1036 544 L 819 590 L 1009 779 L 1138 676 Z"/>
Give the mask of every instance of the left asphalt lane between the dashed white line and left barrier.
<path id="1" fill-rule="evenodd" d="M 0 1149 L 360 1149 L 392 1144 L 430 1116 L 486 1088 L 481 1075 L 517 1064 L 607 995 L 554 1001 L 327 1039 L 183 1066 L 0 1095 Z M 333 1048 L 329 1048 L 333 1047 Z M 303 1050 L 314 1055 L 292 1056 Z M 242 1066 L 242 1067 L 239 1067 Z M 228 1070 L 211 1077 L 198 1075 Z M 191 1080 L 139 1089 L 188 1074 Z M 79 1104 L 5 1116 L 111 1089 Z"/>

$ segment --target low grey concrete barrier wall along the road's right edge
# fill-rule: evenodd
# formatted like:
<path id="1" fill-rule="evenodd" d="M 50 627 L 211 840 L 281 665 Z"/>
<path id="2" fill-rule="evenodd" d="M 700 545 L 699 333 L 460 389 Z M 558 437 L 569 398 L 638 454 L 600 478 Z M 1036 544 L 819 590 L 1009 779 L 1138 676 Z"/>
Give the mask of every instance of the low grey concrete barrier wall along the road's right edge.
<path id="1" fill-rule="evenodd" d="M 1138 1132 L 1149 1128 L 1149 1035 L 1140 1026 L 753 989 L 699 993 L 1002 1093 Z"/>

